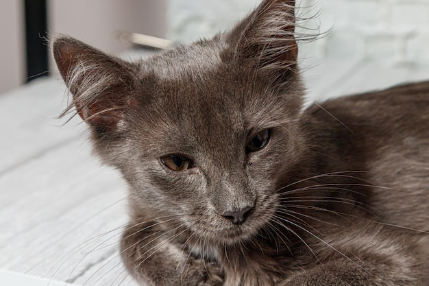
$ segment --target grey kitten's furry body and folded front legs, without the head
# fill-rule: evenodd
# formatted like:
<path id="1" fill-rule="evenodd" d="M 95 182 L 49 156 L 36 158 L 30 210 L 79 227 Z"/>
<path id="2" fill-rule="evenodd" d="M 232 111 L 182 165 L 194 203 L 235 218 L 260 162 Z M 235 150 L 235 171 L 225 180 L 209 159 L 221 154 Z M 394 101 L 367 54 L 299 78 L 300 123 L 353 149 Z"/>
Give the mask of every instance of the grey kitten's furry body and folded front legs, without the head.
<path id="1" fill-rule="evenodd" d="M 154 215 L 137 205 L 132 208 L 132 224 L 138 227 L 127 230 L 123 249 L 136 241 L 144 245 L 154 238 L 151 233 L 162 229 L 167 235 L 143 249 L 170 248 L 167 254 L 158 251 L 151 257 L 154 268 L 142 266 L 137 271 L 147 271 L 147 276 L 157 272 L 159 255 L 160 261 L 171 263 L 166 268 L 186 276 L 181 278 L 184 282 L 193 281 L 189 285 L 198 285 L 197 279 L 201 285 L 217 285 L 219 273 L 227 278 L 225 285 L 282 285 L 285 277 L 289 280 L 284 285 L 307 285 L 306 276 L 312 274 L 315 280 L 308 285 L 428 285 L 429 82 L 334 99 L 321 106 L 304 111 L 299 123 L 305 130 L 306 148 L 279 186 L 290 185 L 277 208 L 278 217 L 291 219 L 292 225 L 277 219 L 280 224 L 271 233 L 236 246 L 201 242 L 188 232 L 163 245 L 183 229 L 170 232 L 174 224 L 168 223 L 145 229 L 139 222 Z M 131 205 L 138 201 L 132 199 Z M 285 209 L 291 211 L 289 215 L 282 214 Z M 281 223 L 300 238 L 282 229 Z M 130 254 L 135 248 L 129 249 Z M 141 257 L 125 256 L 125 261 L 133 270 L 152 253 L 140 251 Z M 195 261 L 195 253 L 217 263 Z M 191 266 L 181 265 L 180 257 Z M 177 269 L 177 265 L 181 266 Z M 191 278 L 195 267 L 198 278 Z M 395 278 L 387 280 L 382 271 Z M 175 275 L 173 279 L 178 278 Z M 215 281 L 202 283 L 207 277 L 201 275 L 212 275 Z M 167 277 L 160 272 L 160 281 L 152 282 L 173 285 Z"/>

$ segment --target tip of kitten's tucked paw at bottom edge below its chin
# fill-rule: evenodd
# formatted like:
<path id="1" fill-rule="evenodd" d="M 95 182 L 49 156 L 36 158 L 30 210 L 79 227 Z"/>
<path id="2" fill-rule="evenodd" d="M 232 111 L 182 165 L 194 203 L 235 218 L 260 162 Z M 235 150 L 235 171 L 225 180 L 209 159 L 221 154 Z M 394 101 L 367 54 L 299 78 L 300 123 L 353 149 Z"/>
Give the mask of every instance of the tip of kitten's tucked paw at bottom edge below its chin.
<path id="1" fill-rule="evenodd" d="M 182 275 L 182 285 L 221 286 L 223 273 L 216 263 L 193 261 Z"/>

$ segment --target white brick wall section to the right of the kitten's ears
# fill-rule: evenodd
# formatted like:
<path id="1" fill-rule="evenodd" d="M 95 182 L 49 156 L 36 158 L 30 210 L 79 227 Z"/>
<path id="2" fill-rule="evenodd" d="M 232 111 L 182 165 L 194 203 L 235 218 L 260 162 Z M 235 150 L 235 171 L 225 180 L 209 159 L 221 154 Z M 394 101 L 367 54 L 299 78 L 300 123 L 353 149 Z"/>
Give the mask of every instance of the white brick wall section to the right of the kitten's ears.
<path id="1" fill-rule="evenodd" d="M 323 7 L 320 21 L 334 21 L 325 56 L 429 64 L 429 1 L 326 0 Z M 341 43 L 353 41 L 350 35 L 357 49 L 340 51 Z"/>

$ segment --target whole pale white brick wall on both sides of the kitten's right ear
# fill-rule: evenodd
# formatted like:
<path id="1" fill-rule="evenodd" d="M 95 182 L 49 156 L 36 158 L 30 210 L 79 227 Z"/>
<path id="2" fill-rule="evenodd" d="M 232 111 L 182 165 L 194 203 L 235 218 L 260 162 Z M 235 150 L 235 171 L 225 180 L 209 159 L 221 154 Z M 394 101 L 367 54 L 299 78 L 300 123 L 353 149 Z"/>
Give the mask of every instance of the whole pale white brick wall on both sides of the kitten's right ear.
<path id="1" fill-rule="evenodd" d="M 228 29 L 260 0 L 168 0 L 167 35 L 189 42 Z M 429 65 L 429 0 L 302 0 L 320 11 L 308 27 L 332 31 L 300 49 L 302 57 Z M 304 13 L 307 10 L 299 10 Z"/>

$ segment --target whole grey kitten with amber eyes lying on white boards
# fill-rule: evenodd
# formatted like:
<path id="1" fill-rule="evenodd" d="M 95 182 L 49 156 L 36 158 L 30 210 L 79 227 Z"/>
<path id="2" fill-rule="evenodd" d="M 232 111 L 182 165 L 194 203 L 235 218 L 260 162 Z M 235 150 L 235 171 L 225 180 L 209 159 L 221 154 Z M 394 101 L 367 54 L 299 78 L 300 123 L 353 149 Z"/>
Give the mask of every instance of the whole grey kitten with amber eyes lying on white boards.
<path id="1" fill-rule="evenodd" d="M 130 185 L 142 285 L 429 285 L 429 82 L 302 111 L 294 28 L 293 1 L 265 0 L 141 62 L 53 43 Z"/>

